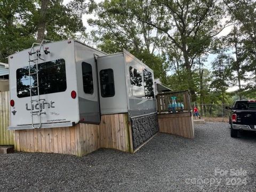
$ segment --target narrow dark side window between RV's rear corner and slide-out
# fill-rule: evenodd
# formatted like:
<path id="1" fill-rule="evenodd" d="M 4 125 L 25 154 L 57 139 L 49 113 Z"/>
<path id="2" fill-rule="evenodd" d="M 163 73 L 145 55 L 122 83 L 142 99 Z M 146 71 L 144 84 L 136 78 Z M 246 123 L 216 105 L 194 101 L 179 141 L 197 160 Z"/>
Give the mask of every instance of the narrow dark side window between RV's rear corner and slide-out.
<path id="1" fill-rule="evenodd" d="M 89 63 L 82 62 L 82 72 L 84 92 L 93 94 L 92 66 Z"/>

